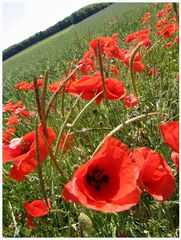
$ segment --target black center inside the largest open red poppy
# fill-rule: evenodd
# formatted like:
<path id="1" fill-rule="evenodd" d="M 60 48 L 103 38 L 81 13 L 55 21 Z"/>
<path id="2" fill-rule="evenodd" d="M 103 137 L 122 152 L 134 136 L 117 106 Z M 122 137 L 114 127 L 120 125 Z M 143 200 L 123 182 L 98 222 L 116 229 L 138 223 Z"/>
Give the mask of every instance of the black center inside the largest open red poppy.
<path id="1" fill-rule="evenodd" d="M 86 182 L 96 191 L 100 191 L 102 187 L 109 183 L 109 176 L 101 168 L 94 168 L 92 172 L 87 173 Z"/>

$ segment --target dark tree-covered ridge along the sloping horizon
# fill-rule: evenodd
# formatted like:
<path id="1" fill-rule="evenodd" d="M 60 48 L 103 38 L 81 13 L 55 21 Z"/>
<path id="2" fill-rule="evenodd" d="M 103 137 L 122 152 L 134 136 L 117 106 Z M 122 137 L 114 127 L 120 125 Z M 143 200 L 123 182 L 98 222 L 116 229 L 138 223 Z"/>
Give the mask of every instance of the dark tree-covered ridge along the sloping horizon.
<path id="1" fill-rule="evenodd" d="M 85 18 L 99 12 L 111 4 L 113 3 L 97 3 L 79 9 L 78 11 L 72 13 L 69 17 L 64 18 L 62 21 L 57 22 L 55 25 L 47 28 L 46 30 L 40 31 L 35 35 L 25 39 L 24 41 L 14 44 L 5 49 L 3 51 L 3 61 L 32 46 L 33 44 L 40 42 L 59 31 L 64 30 L 65 28 L 81 22 Z"/>

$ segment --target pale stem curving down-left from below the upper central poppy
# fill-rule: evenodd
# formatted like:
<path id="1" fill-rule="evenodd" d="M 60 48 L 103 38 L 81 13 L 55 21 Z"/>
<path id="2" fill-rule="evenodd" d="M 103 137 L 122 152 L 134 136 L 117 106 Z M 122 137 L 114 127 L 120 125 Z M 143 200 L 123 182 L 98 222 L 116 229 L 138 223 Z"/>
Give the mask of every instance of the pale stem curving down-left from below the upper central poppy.
<path id="1" fill-rule="evenodd" d="M 64 139 L 64 142 L 63 142 L 63 146 L 62 146 L 62 150 L 61 150 L 61 156 L 60 156 L 60 159 L 62 159 L 63 157 L 63 153 L 64 153 L 64 149 L 65 149 L 65 146 L 66 146 L 66 143 L 67 143 L 67 140 L 68 140 L 68 137 L 70 135 L 70 132 L 71 132 L 71 129 L 74 127 L 74 125 L 76 124 L 76 122 L 79 120 L 79 118 L 82 116 L 82 114 L 84 113 L 84 111 L 89 107 L 89 105 L 91 105 L 91 103 L 99 96 L 102 94 L 102 91 L 100 93 L 98 93 L 93 99 L 91 99 L 90 102 L 88 102 L 85 107 L 80 111 L 80 113 L 77 115 L 77 117 L 74 119 L 73 123 L 70 125 L 69 127 L 69 130 L 67 132 L 67 135 Z"/>

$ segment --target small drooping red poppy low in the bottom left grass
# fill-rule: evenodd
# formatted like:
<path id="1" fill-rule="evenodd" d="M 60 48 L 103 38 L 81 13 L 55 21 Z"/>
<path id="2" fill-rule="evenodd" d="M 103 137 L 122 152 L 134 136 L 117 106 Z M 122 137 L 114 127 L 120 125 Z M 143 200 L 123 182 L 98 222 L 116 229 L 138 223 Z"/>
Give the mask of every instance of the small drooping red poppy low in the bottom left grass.
<path id="1" fill-rule="evenodd" d="M 27 212 L 26 226 L 28 228 L 35 228 L 36 225 L 33 223 L 33 217 L 42 217 L 48 214 L 49 207 L 46 206 L 42 200 L 34 200 L 31 203 L 24 202 L 24 208 Z"/>

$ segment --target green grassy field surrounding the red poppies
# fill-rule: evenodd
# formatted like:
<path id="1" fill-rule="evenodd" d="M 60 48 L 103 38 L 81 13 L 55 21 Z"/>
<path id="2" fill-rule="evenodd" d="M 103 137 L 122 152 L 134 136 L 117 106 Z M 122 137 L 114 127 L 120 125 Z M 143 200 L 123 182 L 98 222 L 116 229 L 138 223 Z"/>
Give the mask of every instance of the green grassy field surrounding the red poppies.
<path id="1" fill-rule="evenodd" d="M 50 157 L 42 164 L 47 198 L 50 199 L 49 213 L 34 218 L 36 228 L 26 227 L 26 211 L 23 202 L 42 199 L 38 171 L 27 176 L 27 180 L 16 181 L 9 176 L 11 163 L 3 164 L 3 236 L 4 237 L 179 237 L 179 176 L 171 160 L 171 148 L 159 130 L 162 122 L 179 119 L 179 44 L 166 48 L 168 39 L 156 35 L 157 12 L 163 4 L 153 3 L 115 3 L 108 8 L 88 17 L 79 24 L 73 25 L 44 41 L 20 52 L 3 62 L 3 104 L 8 101 L 16 103 L 20 100 L 28 111 L 37 112 L 34 91 L 19 91 L 14 85 L 44 75 L 49 68 L 48 85 L 59 81 L 67 72 L 75 67 L 88 51 L 89 42 L 98 37 L 112 36 L 118 33 L 120 48 L 134 48 L 133 43 L 123 41 L 128 34 L 141 29 L 150 29 L 151 47 L 141 47 L 143 72 L 134 74 L 140 100 L 133 108 L 123 105 L 122 101 L 104 100 L 100 104 L 92 102 L 83 111 L 76 123 L 71 127 L 88 101 L 70 94 L 59 94 L 55 99 L 55 110 L 51 110 L 47 118 L 48 127 L 58 136 L 63 124 L 65 131 L 71 130 L 73 142 L 70 149 L 56 158 L 68 181 L 72 178 L 77 166 L 89 160 L 104 137 L 119 124 L 142 114 L 159 112 L 155 116 L 147 116 L 132 124 L 125 125 L 114 137 L 127 144 L 130 149 L 148 147 L 163 156 L 170 166 L 174 179 L 175 191 L 166 201 L 155 200 L 145 190 L 138 204 L 129 210 L 117 213 L 102 213 L 76 203 L 69 203 L 62 198 L 65 180 L 51 165 Z M 173 10 L 172 10 L 173 11 Z M 152 18 L 148 25 L 140 26 L 141 18 L 150 12 Z M 172 13 L 174 15 L 174 12 Z M 114 63 L 114 60 L 113 60 Z M 149 69 L 154 67 L 159 74 L 148 76 Z M 118 65 L 121 80 L 128 93 L 133 92 L 129 68 L 123 63 Z M 110 77 L 114 77 L 109 72 Z M 41 90 L 42 91 L 42 90 Z M 47 91 L 46 106 L 52 93 Z M 3 129 L 9 113 L 3 114 Z M 69 116 L 67 118 L 67 116 Z M 15 137 L 35 130 L 36 118 L 16 123 Z M 53 151 L 55 151 L 53 144 Z M 84 213 L 84 220 L 80 214 Z M 81 223 L 80 223 L 81 222 Z M 83 222 L 83 223 L 82 223 Z"/>

